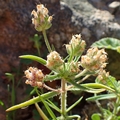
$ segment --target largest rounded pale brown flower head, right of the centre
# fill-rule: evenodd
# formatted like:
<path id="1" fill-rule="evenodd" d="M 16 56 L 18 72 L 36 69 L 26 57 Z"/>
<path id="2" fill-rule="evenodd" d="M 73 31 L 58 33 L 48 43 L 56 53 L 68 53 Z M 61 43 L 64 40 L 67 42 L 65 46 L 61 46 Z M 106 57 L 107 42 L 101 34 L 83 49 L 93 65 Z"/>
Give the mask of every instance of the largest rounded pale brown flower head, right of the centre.
<path id="1" fill-rule="evenodd" d="M 107 53 L 104 49 L 90 48 L 86 55 L 81 57 L 81 65 L 90 71 L 96 71 L 106 67 Z"/>

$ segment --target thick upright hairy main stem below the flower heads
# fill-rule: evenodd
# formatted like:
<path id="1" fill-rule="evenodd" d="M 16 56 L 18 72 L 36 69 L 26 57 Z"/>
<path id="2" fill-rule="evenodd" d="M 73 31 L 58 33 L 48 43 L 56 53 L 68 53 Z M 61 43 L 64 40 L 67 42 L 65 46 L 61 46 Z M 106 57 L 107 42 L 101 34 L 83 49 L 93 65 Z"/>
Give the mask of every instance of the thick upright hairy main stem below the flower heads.
<path id="1" fill-rule="evenodd" d="M 67 87 L 67 83 L 65 81 L 65 79 L 61 80 L 61 114 L 62 114 L 62 118 L 65 119 L 66 118 L 66 97 L 67 97 L 67 91 L 66 91 L 66 87 Z"/>

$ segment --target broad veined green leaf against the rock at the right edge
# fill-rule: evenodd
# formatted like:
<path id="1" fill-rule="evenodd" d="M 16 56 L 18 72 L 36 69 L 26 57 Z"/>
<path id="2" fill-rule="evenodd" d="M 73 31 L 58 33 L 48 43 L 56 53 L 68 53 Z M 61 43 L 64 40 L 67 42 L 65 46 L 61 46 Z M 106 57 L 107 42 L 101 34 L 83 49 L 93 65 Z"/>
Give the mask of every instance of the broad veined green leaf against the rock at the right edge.
<path id="1" fill-rule="evenodd" d="M 120 40 L 110 37 L 102 38 L 99 41 L 93 43 L 92 47 L 111 49 L 120 53 Z"/>

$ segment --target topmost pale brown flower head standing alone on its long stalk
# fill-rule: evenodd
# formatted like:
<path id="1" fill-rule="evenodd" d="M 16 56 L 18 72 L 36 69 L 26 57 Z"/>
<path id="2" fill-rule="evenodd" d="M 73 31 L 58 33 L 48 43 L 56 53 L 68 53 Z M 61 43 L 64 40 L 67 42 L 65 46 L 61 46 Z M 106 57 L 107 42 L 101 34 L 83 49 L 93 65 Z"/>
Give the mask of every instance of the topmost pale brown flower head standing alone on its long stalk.
<path id="1" fill-rule="evenodd" d="M 37 5 L 37 11 L 31 12 L 32 23 L 37 31 L 47 30 L 51 27 L 52 16 L 48 15 L 48 9 L 43 4 Z"/>

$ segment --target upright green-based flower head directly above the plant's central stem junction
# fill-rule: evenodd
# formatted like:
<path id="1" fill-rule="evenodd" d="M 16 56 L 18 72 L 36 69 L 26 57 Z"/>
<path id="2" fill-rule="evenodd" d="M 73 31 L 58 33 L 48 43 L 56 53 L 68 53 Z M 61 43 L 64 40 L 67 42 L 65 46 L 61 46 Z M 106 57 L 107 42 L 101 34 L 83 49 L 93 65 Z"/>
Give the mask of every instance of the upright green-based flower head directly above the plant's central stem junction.
<path id="1" fill-rule="evenodd" d="M 69 44 L 66 45 L 67 53 L 74 56 L 79 56 L 85 50 L 86 43 L 84 40 L 81 40 L 81 35 L 76 34 L 72 36 Z"/>

